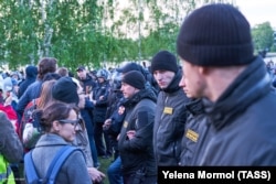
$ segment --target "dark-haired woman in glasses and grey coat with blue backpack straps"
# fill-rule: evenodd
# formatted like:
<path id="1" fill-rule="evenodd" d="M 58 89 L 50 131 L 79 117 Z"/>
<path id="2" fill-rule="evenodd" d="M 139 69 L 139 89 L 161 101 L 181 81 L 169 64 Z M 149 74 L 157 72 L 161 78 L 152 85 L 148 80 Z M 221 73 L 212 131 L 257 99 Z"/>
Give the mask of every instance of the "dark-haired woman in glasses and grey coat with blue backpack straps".
<path id="1" fill-rule="evenodd" d="M 91 184 L 84 153 L 72 145 L 81 129 L 78 108 L 73 104 L 53 102 L 35 113 L 45 133 L 24 156 L 26 183 Z M 71 151 L 62 156 L 66 149 Z"/>

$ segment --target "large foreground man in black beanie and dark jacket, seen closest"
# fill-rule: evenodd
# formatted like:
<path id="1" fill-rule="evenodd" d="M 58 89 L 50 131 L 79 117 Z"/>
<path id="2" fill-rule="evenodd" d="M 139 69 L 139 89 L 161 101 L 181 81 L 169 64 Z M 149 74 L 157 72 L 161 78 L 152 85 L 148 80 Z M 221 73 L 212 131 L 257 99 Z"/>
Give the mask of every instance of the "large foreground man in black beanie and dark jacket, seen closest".
<path id="1" fill-rule="evenodd" d="M 230 4 L 194 10 L 177 48 L 185 85 L 204 97 L 208 128 L 192 164 L 276 165 L 276 93 L 245 17 Z"/>

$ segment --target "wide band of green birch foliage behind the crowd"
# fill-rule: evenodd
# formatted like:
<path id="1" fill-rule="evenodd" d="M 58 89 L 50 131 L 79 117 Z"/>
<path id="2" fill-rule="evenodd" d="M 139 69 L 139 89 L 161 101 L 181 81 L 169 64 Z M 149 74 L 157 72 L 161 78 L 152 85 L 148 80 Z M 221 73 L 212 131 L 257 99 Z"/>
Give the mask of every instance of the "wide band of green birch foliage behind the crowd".
<path id="1" fill-rule="evenodd" d="M 149 59 L 159 50 L 176 53 L 179 25 L 198 2 L 4 0 L 0 2 L 0 64 L 17 68 L 52 56 L 70 69 L 81 64 L 97 68 Z"/>

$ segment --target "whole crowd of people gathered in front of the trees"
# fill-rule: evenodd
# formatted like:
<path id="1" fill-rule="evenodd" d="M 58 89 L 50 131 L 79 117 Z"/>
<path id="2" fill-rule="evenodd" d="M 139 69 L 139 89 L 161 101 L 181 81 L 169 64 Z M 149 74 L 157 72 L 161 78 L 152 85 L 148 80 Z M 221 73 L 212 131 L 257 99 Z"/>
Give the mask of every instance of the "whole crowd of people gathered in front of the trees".
<path id="1" fill-rule="evenodd" d="M 276 89 L 246 18 L 223 3 L 194 10 L 177 53 L 180 62 L 161 50 L 149 67 L 94 72 L 43 57 L 24 75 L 2 75 L 0 183 L 20 183 L 24 155 L 36 180 L 50 180 L 64 147 L 77 149 L 55 183 L 156 184 L 158 166 L 275 166 Z M 113 158 L 107 176 L 98 158 Z"/>

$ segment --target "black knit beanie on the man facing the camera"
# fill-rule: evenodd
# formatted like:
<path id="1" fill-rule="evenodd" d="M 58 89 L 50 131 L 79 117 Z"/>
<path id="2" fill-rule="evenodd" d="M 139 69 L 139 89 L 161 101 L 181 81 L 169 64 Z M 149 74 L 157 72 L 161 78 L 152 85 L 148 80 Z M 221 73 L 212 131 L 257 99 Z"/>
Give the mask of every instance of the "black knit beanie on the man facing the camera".
<path id="1" fill-rule="evenodd" d="M 151 59 L 150 69 L 151 73 L 153 73 L 155 71 L 171 71 L 173 73 L 177 73 L 177 57 L 168 51 L 160 51 Z"/>

